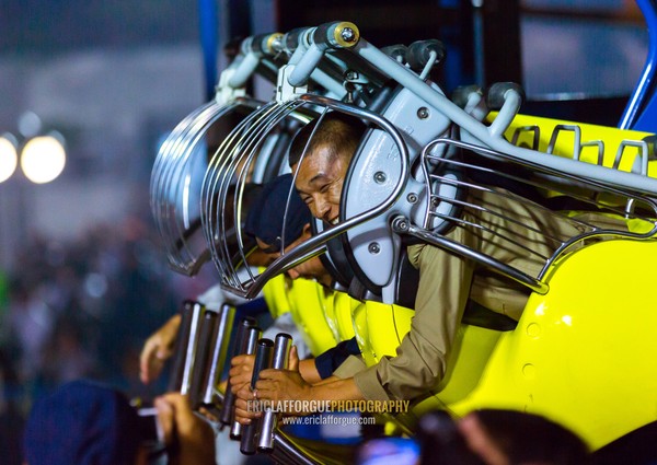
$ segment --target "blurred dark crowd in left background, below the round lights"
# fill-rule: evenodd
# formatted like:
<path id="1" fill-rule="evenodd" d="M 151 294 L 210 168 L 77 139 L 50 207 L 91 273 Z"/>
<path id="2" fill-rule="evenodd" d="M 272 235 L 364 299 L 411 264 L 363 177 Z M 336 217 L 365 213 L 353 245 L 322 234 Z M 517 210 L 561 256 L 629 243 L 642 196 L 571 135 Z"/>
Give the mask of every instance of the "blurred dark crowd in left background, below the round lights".
<path id="1" fill-rule="evenodd" d="M 169 271 L 138 216 L 72 241 L 33 236 L 4 274 L 0 297 L 0 454 L 19 464 L 21 426 L 35 398 L 81 379 L 152 398 L 165 380 L 139 382 L 143 341 L 199 280 Z M 192 287 L 191 287 L 192 284 Z"/>

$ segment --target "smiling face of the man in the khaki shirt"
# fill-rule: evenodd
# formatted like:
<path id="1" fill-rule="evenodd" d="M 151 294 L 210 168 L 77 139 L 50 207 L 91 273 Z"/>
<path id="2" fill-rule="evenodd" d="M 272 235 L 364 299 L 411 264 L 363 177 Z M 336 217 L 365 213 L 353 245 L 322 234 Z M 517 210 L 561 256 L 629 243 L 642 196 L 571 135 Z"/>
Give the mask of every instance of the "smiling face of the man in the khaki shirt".
<path id="1" fill-rule="evenodd" d="M 348 156 L 332 156 L 322 147 L 308 153 L 292 166 L 292 172 L 297 172 L 295 186 L 313 217 L 330 224 L 337 223 L 339 198 L 348 165 Z"/>

